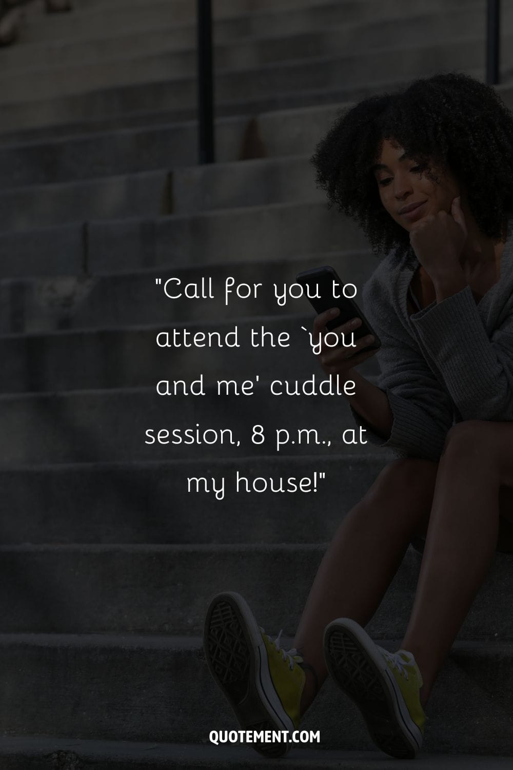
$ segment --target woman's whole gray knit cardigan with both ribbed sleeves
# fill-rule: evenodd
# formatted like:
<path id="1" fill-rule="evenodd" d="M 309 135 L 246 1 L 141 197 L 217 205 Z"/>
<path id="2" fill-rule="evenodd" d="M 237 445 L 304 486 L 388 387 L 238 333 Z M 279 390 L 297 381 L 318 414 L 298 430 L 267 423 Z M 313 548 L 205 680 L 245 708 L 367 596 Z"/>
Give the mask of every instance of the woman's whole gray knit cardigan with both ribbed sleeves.
<path id="1" fill-rule="evenodd" d="M 501 277 L 479 303 L 470 286 L 408 316 L 415 254 L 385 257 L 363 287 L 365 315 L 381 338 L 383 390 L 394 416 L 385 441 L 351 409 L 365 437 L 399 457 L 438 460 L 461 420 L 513 420 L 513 243 Z"/>

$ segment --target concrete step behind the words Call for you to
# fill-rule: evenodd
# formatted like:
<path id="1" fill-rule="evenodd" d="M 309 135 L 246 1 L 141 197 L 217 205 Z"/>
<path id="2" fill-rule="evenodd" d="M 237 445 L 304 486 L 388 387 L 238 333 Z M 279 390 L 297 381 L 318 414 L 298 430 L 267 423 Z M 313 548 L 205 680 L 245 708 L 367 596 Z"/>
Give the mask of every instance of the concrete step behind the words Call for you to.
<path id="1" fill-rule="evenodd" d="M 98 276 L 56 276 L 46 278 L 4 279 L 0 282 L 0 333 L 41 333 L 62 329 L 120 328 L 134 324 L 168 324 L 171 322 L 209 321 L 238 316 L 284 316 L 308 310 L 304 297 L 288 298 L 278 305 L 273 284 L 282 302 L 284 285 L 294 283 L 295 276 L 316 266 L 334 266 L 343 281 L 351 281 L 361 290 L 379 257 L 368 250 L 311 254 L 304 259 L 274 260 L 259 263 L 212 265 L 208 269 L 186 267 L 166 269 L 164 266 L 132 273 Z M 256 298 L 231 295 L 225 301 L 228 278 L 241 283 L 263 283 Z M 193 300 L 185 296 L 163 301 L 155 293 L 155 282 L 166 282 L 168 293 L 184 294 L 190 284 L 201 292 L 212 280 L 212 300 Z M 180 283 L 176 283 L 179 280 Z M 177 287 L 178 290 L 177 290 Z M 162 300 L 162 301 L 161 301 Z M 357 303 L 361 304 L 359 294 Z"/>

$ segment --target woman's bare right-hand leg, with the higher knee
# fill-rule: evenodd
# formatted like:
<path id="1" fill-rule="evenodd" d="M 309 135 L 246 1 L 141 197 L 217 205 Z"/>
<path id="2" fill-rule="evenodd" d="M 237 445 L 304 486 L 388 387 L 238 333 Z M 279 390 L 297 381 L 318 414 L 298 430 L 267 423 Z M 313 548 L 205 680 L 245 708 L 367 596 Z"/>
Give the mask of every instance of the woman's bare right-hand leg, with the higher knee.
<path id="1" fill-rule="evenodd" d="M 513 423 L 471 420 L 449 431 L 401 644 L 421 669 L 423 705 L 494 557 L 501 484 L 513 484 L 512 446 Z"/>

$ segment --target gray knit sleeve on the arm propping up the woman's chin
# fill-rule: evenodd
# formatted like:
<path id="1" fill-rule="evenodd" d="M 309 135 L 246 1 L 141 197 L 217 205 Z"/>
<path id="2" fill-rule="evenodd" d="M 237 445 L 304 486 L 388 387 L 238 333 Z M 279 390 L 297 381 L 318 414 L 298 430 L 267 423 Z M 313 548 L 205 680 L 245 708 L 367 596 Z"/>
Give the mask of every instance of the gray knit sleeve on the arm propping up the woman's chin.
<path id="1" fill-rule="evenodd" d="M 462 420 L 513 420 L 513 317 L 491 336 L 470 286 L 411 316 Z"/>

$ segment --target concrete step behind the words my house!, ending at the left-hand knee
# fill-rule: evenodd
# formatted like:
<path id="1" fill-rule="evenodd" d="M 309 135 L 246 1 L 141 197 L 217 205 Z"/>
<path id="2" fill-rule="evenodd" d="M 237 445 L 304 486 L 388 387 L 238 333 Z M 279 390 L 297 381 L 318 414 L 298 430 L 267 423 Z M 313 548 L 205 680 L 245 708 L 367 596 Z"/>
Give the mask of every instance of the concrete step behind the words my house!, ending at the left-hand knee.
<path id="1" fill-rule="evenodd" d="M 391 453 L 382 450 L 375 456 L 295 457 L 292 462 L 285 456 L 3 467 L 0 490 L 10 515 L 2 542 L 327 542 L 390 460 Z M 187 490 L 192 476 L 233 479 L 239 470 L 248 478 L 305 477 L 316 467 L 326 476 L 317 494 L 321 513 L 314 517 L 308 494 L 237 494 L 226 484 L 223 500 L 215 500 L 212 493 Z"/>

